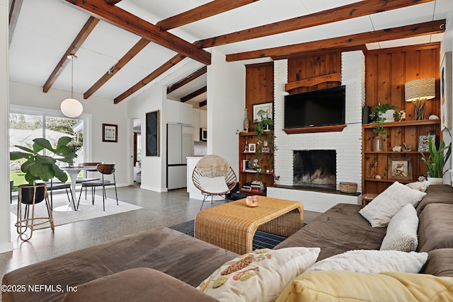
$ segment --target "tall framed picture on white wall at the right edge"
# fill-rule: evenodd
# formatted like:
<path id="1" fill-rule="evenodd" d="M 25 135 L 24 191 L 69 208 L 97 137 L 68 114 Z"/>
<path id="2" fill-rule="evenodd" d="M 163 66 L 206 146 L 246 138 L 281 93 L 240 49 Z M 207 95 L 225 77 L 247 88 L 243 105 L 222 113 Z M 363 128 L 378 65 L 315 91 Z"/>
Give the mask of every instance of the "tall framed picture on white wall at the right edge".
<path id="1" fill-rule="evenodd" d="M 452 127 L 452 52 L 445 52 L 440 65 L 440 115 L 442 126 Z"/>

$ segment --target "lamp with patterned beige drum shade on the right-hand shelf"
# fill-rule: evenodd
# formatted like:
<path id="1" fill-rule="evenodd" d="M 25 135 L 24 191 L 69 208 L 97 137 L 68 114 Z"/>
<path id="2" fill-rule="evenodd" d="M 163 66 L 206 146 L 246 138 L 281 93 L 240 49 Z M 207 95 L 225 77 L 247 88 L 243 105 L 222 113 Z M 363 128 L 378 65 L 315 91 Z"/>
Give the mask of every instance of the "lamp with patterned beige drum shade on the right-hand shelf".
<path id="1" fill-rule="evenodd" d="M 436 80 L 423 78 L 408 81 L 404 84 L 404 99 L 413 103 L 413 120 L 425 120 L 426 100 L 436 97 Z"/>

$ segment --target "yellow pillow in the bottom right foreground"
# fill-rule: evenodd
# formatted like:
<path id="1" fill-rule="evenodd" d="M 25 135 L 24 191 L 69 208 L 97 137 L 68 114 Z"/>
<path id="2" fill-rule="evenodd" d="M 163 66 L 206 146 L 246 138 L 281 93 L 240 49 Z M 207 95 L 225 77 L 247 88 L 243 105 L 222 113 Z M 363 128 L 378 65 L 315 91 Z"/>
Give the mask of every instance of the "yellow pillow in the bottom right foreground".
<path id="1" fill-rule="evenodd" d="M 452 301 L 453 277 L 383 272 L 305 272 L 291 281 L 277 302 Z"/>

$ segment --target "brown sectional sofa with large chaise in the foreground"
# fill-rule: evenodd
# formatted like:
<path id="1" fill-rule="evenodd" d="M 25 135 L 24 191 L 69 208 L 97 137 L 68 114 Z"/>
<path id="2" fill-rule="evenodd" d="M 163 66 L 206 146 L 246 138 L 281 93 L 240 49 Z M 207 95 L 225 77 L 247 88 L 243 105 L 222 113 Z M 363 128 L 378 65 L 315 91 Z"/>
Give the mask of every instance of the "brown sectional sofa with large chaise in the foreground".
<path id="1" fill-rule="evenodd" d="M 453 277 L 453 187 L 431 185 L 426 192 L 417 207 L 418 251 L 428 252 L 421 273 Z M 318 260 L 347 250 L 379 250 L 386 228 L 372 228 L 360 209 L 337 204 L 275 249 L 318 247 Z M 195 286 L 236 256 L 156 228 L 8 272 L 3 284 L 47 284 L 62 291 L 6 291 L 2 301 L 215 301 Z M 77 292 L 67 294 L 67 285 Z"/>

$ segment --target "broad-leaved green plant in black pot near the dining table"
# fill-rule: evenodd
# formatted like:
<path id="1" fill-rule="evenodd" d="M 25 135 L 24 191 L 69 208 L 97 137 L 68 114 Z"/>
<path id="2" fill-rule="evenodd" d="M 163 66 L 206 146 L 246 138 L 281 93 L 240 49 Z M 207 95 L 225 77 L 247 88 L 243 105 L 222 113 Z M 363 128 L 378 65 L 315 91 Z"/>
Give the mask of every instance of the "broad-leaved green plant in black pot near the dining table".
<path id="1" fill-rule="evenodd" d="M 28 185 L 22 188 L 23 203 L 31 203 L 33 201 L 33 192 L 36 192 L 35 203 L 44 199 L 44 187 L 33 187 L 36 184 L 36 180 L 47 182 L 52 178 L 57 178 L 62 182 L 67 181 L 68 176 L 59 168 L 57 161 L 64 163 L 74 162 L 74 158 L 77 157 L 76 149 L 68 146 L 70 142 L 70 137 L 60 137 L 57 146 L 54 148 L 47 139 L 37 138 L 33 139 L 31 149 L 28 146 L 16 146 L 22 151 L 10 152 L 11 161 L 25 159 L 25 162 L 21 165 L 21 170 L 25 173 L 25 180 Z M 42 150 L 50 153 L 40 154 Z"/>

